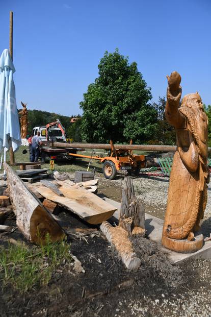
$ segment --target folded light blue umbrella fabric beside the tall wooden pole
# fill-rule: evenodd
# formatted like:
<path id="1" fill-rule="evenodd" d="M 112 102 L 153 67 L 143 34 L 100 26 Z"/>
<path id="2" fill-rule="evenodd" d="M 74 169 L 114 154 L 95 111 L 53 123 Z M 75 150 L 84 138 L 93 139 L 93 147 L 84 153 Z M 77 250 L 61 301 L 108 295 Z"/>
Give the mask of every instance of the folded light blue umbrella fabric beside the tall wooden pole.
<path id="1" fill-rule="evenodd" d="M 12 147 L 15 152 L 21 145 L 14 72 L 9 50 L 4 50 L 0 57 L 0 151 L 7 151 Z"/>

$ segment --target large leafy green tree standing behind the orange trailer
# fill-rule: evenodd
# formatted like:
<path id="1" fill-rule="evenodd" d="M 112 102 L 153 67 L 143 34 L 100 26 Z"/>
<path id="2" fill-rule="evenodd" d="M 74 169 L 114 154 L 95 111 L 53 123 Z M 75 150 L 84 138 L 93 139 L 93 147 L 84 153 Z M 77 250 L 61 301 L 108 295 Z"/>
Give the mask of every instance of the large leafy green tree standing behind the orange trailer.
<path id="1" fill-rule="evenodd" d="M 82 138 L 87 142 L 142 143 L 157 127 L 156 110 L 148 104 L 150 88 L 135 62 L 128 57 L 105 52 L 98 65 L 99 77 L 84 93 L 81 123 Z"/>

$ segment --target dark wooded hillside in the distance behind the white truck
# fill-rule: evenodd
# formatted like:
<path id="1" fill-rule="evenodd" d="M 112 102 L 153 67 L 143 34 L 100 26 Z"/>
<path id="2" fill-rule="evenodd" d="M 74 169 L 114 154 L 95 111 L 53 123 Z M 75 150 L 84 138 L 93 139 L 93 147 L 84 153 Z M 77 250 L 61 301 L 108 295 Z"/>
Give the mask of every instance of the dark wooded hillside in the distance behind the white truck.
<path id="1" fill-rule="evenodd" d="M 20 110 L 20 109 L 19 109 Z M 18 111 L 19 111 L 18 110 Z M 28 110 L 28 120 L 29 120 L 29 127 L 28 127 L 28 133 L 32 132 L 32 129 L 36 126 L 45 126 L 46 124 L 50 122 L 56 121 L 56 119 L 59 119 L 64 126 L 65 130 L 67 131 L 70 127 L 70 119 L 78 115 L 61 115 L 54 112 L 47 112 L 47 111 L 41 111 L 41 110 Z"/>

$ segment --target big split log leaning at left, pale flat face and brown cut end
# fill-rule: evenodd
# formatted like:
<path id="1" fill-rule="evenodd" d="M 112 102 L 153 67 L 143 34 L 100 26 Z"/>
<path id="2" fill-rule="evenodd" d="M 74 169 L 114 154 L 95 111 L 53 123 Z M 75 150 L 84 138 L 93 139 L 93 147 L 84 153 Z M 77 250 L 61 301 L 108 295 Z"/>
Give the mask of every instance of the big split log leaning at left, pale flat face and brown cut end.
<path id="1" fill-rule="evenodd" d="M 19 230 L 28 240 L 35 243 L 45 243 L 46 234 L 49 234 L 52 242 L 63 239 L 66 234 L 62 227 L 12 168 L 7 163 L 4 163 L 4 167 Z"/>

